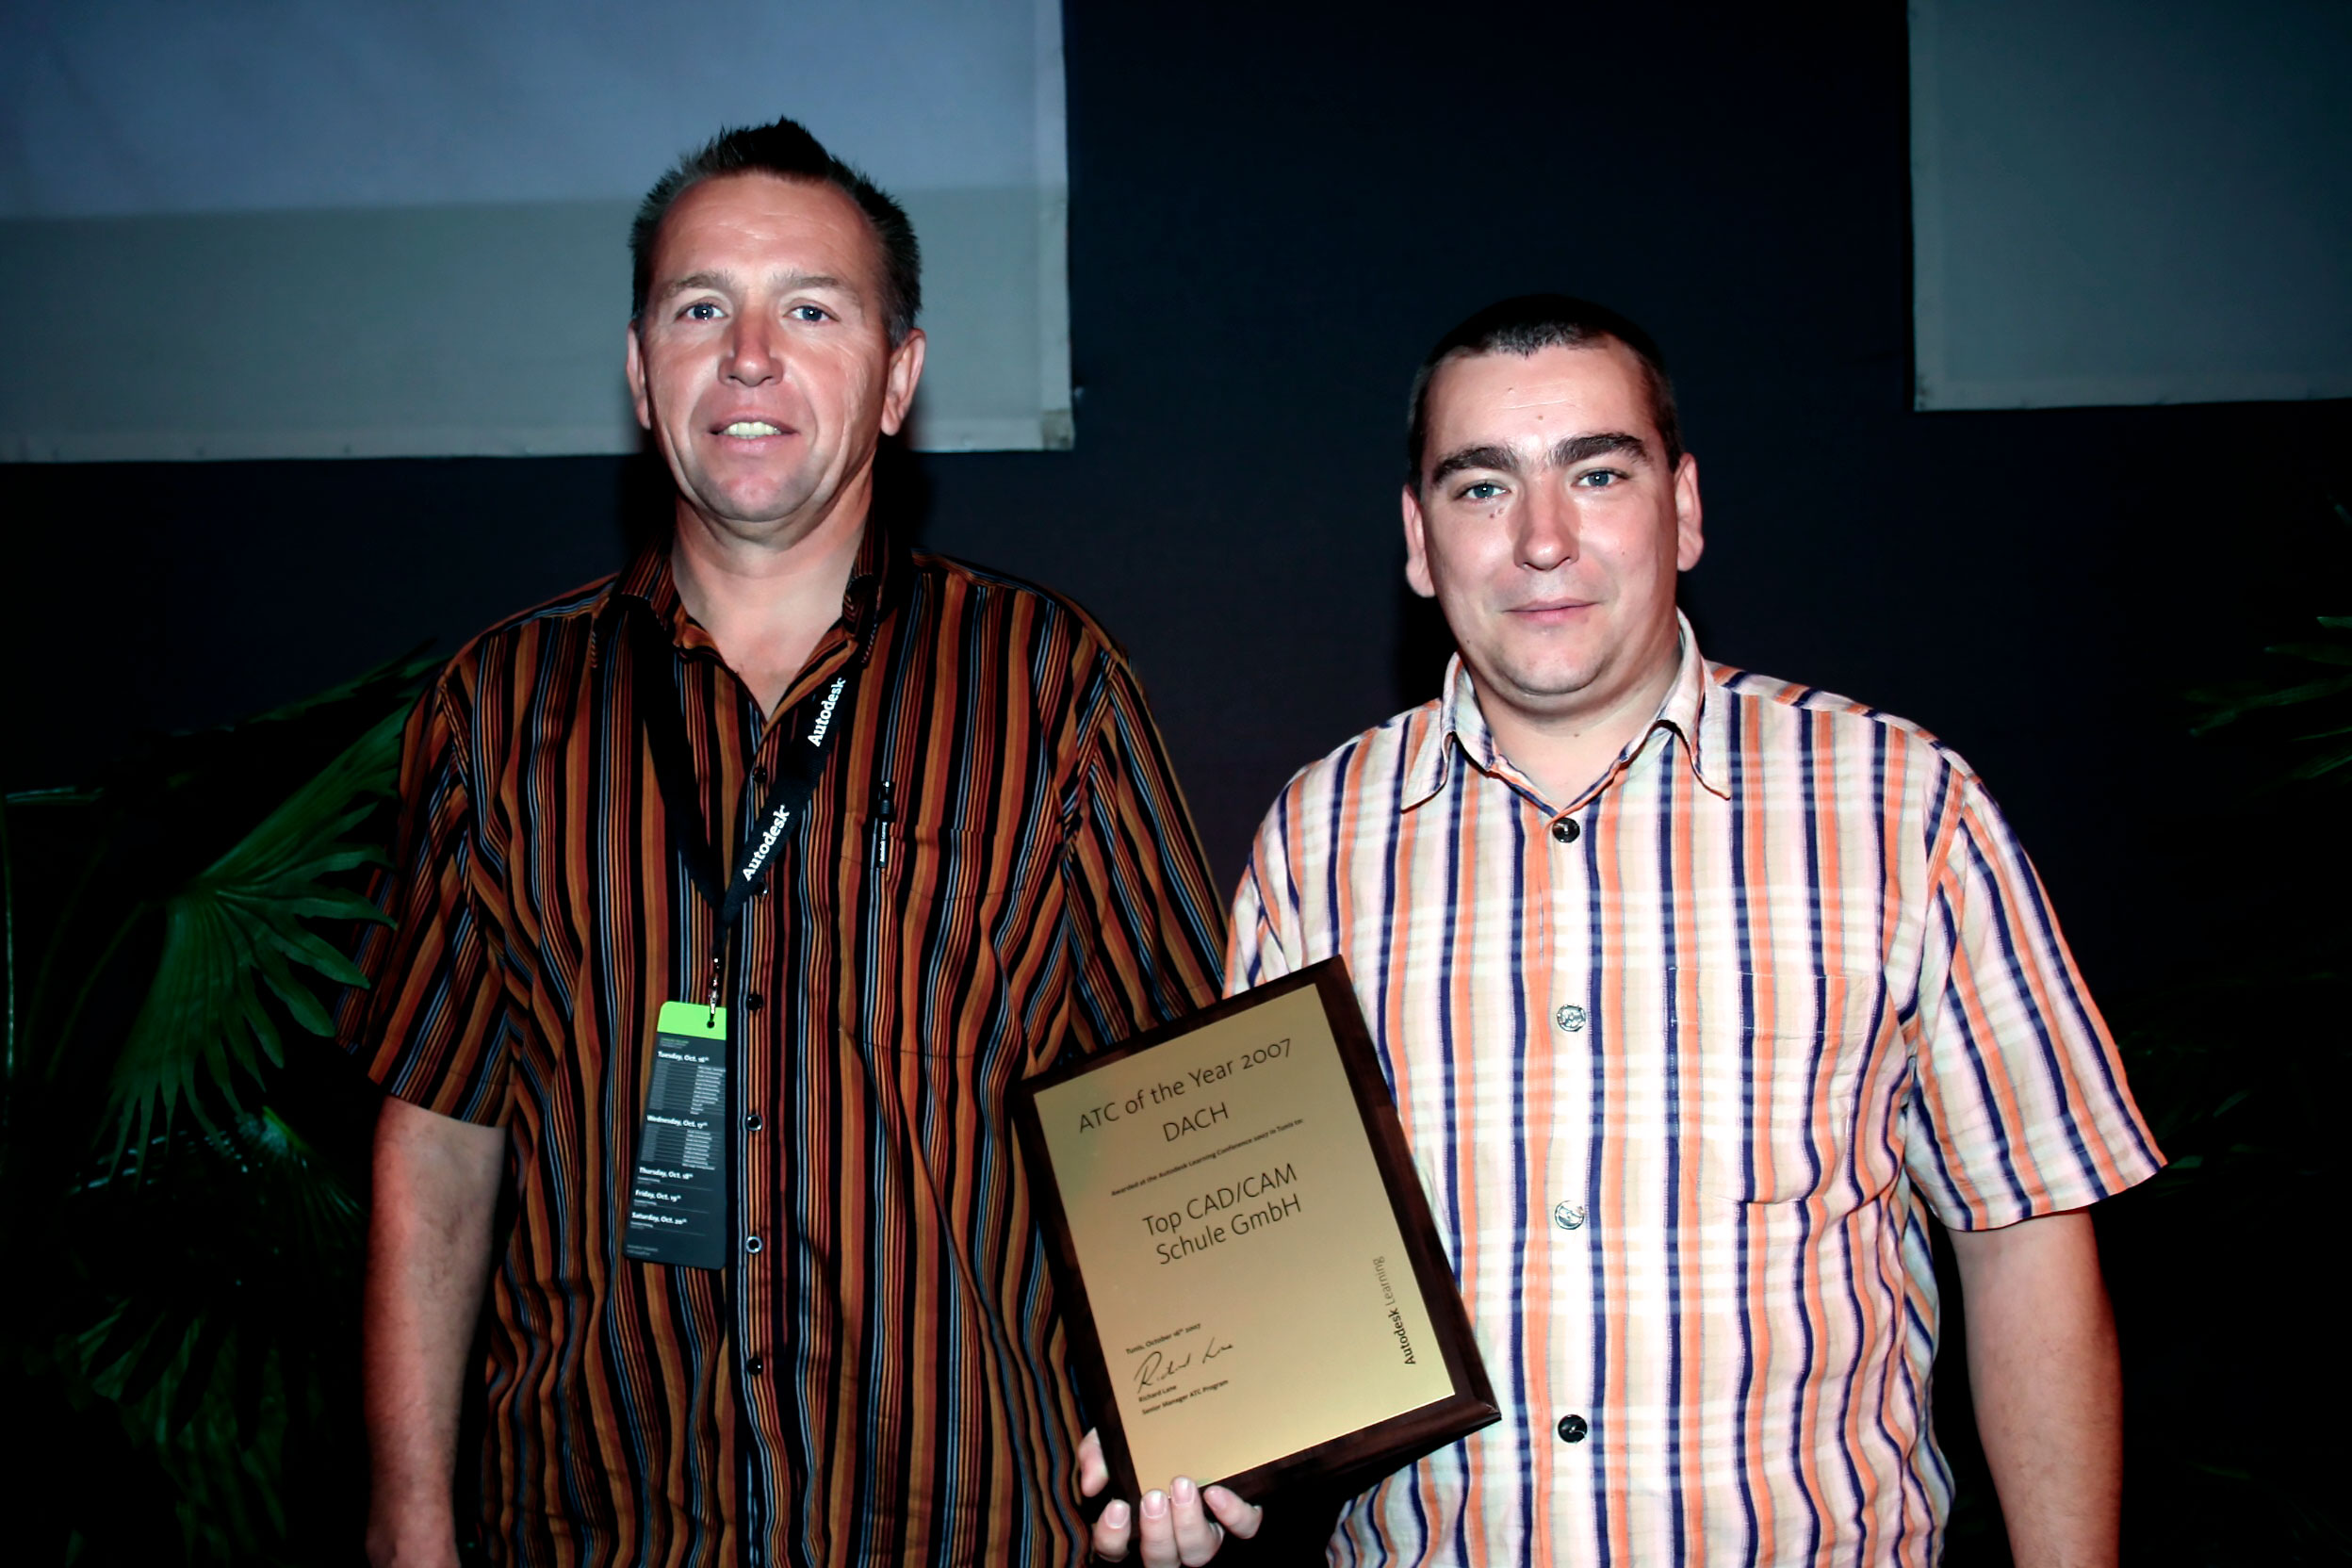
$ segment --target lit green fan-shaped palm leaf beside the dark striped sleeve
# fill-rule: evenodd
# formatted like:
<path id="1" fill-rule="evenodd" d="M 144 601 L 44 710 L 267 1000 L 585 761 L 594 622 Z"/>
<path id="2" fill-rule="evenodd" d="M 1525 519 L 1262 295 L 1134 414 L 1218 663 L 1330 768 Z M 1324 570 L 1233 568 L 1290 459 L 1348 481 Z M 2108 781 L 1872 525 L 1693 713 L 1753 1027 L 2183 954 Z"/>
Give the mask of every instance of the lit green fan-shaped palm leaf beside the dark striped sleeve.
<path id="1" fill-rule="evenodd" d="M 299 1027 L 332 1034 L 327 1006 L 301 971 L 334 985 L 365 985 L 350 959 L 308 922 L 383 919 L 334 877 L 383 858 L 353 830 L 393 790 L 402 719 L 402 712 L 386 715 L 165 900 L 155 983 L 111 1081 L 118 1161 L 125 1150 L 146 1150 L 169 1131 L 181 1105 L 207 1131 L 219 1126 L 207 1105 L 212 1095 L 242 1114 L 238 1079 L 259 1086 L 261 1060 L 285 1060 L 263 990 Z"/>

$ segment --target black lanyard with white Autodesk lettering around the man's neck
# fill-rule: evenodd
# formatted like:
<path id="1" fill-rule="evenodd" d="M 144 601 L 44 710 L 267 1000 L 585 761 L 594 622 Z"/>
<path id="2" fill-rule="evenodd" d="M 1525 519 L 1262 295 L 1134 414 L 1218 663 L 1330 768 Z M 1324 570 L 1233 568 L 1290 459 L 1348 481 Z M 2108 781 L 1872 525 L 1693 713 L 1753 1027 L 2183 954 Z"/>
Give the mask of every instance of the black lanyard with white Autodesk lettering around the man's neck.
<path id="1" fill-rule="evenodd" d="M 753 818 L 757 823 L 748 853 L 741 856 L 734 877 L 720 884 L 720 858 L 713 849 L 710 825 L 703 820 L 703 790 L 694 778 L 694 750 L 687 745 L 687 715 L 677 693 L 677 649 L 661 616 L 652 607 L 633 607 L 630 621 L 630 679 L 637 719 L 644 724 L 647 748 L 654 752 L 654 778 L 661 785 L 663 816 L 670 827 L 670 844 L 687 867 L 687 877 L 717 907 L 720 943 L 743 905 L 757 891 L 767 863 L 776 858 L 786 827 L 809 804 L 816 780 L 826 771 L 833 743 L 849 729 L 849 705 L 858 684 L 861 658 L 811 691 L 786 715 L 788 741 L 776 766 L 776 788 Z M 717 966 L 717 954 L 710 957 Z"/>

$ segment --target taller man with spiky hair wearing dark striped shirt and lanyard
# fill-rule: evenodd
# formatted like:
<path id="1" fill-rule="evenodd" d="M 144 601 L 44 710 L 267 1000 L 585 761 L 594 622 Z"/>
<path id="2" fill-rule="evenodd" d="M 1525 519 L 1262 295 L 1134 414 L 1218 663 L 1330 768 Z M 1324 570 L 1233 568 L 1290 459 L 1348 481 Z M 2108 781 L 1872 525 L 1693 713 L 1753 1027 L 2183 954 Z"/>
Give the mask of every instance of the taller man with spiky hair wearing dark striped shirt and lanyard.
<path id="1" fill-rule="evenodd" d="M 675 527 L 419 703 L 343 1011 L 388 1091 L 369 1556 L 1070 1563 L 1007 1095 L 1216 997 L 1200 844 L 1084 611 L 875 522 L 924 364 L 898 205 L 781 120 L 630 244 Z"/>

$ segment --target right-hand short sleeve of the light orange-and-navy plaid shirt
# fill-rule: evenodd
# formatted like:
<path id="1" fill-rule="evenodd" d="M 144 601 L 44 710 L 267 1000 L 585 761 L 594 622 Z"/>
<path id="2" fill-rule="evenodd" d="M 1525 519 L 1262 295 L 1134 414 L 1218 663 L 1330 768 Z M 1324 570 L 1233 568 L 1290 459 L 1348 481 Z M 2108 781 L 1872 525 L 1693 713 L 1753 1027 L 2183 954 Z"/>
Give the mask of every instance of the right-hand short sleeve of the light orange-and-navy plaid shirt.
<path id="1" fill-rule="evenodd" d="M 2042 879 L 1973 778 L 1936 858 L 1912 1030 L 1905 1164 L 1945 1225 L 2082 1208 L 2164 1168 Z"/>

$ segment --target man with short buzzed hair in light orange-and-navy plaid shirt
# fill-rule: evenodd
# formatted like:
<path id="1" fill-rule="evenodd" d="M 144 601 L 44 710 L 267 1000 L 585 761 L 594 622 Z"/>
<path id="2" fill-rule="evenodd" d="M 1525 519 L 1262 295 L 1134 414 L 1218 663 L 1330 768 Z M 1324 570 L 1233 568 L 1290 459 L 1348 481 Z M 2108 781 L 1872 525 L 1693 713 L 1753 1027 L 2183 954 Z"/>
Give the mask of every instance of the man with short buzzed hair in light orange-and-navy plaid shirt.
<path id="1" fill-rule="evenodd" d="M 2112 1563 L 2084 1211 L 2161 1157 L 1983 783 L 1700 658 L 1698 463 L 1599 306 L 1439 339 L 1402 505 L 1458 656 L 1275 802 L 1228 985 L 1348 959 L 1503 1420 L 1334 1561 L 1938 1561 L 1933 1220 L 2016 1561 Z"/>

